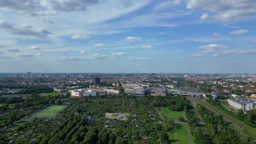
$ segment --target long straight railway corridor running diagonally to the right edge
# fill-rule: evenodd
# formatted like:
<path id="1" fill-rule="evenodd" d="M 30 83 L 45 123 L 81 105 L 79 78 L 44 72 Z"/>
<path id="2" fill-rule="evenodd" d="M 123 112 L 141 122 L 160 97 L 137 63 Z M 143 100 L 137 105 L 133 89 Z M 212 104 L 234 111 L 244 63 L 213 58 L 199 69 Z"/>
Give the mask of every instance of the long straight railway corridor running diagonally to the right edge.
<path id="1" fill-rule="evenodd" d="M 238 123 L 234 118 L 230 117 L 229 115 L 226 115 L 222 111 L 220 111 L 220 110 L 216 109 L 215 107 L 211 106 L 210 104 L 206 103 L 206 101 L 204 101 L 200 98 L 194 98 L 194 97 L 186 97 L 186 98 L 190 101 L 194 101 L 196 104 L 201 104 L 201 105 L 205 106 L 207 109 L 212 110 L 213 112 L 216 112 L 219 115 L 222 115 L 229 122 L 237 124 L 240 127 L 242 127 L 243 129 L 246 129 L 247 131 L 252 133 L 253 135 L 256 135 L 256 133 L 253 130 L 251 130 L 250 128 L 248 128 L 245 124 Z"/>

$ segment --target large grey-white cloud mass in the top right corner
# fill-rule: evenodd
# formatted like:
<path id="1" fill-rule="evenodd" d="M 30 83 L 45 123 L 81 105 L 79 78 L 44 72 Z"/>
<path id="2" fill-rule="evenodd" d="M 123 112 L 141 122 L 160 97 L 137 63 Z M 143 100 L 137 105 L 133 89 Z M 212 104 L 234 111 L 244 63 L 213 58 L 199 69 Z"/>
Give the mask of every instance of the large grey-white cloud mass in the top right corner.
<path id="1" fill-rule="evenodd" d="M 187 5 L 188 9 L 207 11 L 202 14 L 201 20 L 219 21 L 241 20 L 245 17 L 255 16 L 255 7 L 255 0 L 189 0 Z"/>

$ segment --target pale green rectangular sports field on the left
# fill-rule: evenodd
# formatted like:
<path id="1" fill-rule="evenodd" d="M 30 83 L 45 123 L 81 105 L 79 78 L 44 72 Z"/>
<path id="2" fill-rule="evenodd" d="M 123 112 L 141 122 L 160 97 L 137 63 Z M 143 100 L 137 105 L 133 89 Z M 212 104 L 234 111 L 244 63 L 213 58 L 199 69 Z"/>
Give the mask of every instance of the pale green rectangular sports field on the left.
<path id="1" fill-rule="evenodd" d="M 61 112 L 66 107 L 66 105 L 48 106 L 45 109 L 35 113 L 33 117 L 54 117 L 57 113 Z"/>

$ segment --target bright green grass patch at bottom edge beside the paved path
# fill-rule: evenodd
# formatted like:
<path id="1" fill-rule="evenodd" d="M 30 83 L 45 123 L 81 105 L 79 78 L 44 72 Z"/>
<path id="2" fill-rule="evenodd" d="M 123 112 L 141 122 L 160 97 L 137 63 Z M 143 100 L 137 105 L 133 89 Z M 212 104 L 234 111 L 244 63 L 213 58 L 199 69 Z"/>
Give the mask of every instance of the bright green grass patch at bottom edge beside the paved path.
<path id="1" fill-rule="evenodd" d="M 176 129 L 168 132 L 169 140 L 171 143 L 189 143 L 186 126 L 183 124 L 175 124 Z M 175 139 L 175 132 L 177 132 L 178 140 Z"/>

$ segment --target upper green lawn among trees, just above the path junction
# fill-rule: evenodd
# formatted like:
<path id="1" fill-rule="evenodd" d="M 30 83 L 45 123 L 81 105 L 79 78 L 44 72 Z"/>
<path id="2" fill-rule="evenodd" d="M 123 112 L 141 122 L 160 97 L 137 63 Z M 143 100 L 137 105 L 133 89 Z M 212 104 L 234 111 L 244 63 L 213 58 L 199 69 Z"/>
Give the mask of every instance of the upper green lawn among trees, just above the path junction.
<path id="1" fill-rule="evenodd" d="M 183 117 L 181 111 L 171 111 L 167 107 L 161 107 L 159 112 L 164 119 L 178 120 L 179 117 Z"/>

